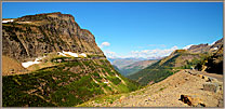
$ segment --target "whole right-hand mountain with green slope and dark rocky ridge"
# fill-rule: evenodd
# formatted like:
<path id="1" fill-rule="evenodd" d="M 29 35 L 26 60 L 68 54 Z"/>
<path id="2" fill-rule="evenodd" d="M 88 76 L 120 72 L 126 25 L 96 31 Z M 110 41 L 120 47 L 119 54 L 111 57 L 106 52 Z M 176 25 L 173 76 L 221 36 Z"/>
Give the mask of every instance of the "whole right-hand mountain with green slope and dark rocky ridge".
<path id="1" fill-rule="evenodd" d="M 193 45 L 188 50 L 175 50 L 168 57 L 160 59 L 154 65 L 128 76 L 129 79 L 140 82 L 143 85 L 159 82 L 181 69 L 196 68 L 202 71 L 214 73 L 223 67 L 223 39 L 213 45 Z M 211 59 L 209 59 L 211 58 Z"/>

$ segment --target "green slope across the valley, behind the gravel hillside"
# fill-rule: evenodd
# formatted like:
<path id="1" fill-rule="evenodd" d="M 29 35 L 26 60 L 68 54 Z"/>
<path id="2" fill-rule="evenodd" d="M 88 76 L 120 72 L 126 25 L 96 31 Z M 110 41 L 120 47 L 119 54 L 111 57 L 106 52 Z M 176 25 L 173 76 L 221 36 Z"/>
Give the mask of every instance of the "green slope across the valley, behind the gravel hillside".
<path id="1" fill-rule="evenodd" d="M 188 58 L 185 58 L 188 57 Z M 191 58 L 189 58 L 191 57 Z M 201 58 L 198 58 L 201 57 Z M 143 85 L 149 82 L 159 82 L 169 76 L 178 71 L 178 69 L 191 68 L 200 59 L 202 59 L 203 54 L 189 54 L 183 51 L 176 51 L 169 57 L 166 57 L 154 65 L 129 76 L 129 79 L 140 82 Z M 185 59 L 184 59 L 185 58 Z M 180 66 L 177 67 L 176 65 Z"/>

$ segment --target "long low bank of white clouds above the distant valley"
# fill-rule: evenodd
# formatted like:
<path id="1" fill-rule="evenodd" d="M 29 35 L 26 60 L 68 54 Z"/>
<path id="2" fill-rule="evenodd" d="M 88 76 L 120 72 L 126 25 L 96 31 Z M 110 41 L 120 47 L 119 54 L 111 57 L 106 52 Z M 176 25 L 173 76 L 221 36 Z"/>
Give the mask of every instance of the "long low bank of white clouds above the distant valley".
<path id="1" fill-rule="evenodd" d="M 105 55 L 109 58 L 158 58 L 170 55 L 174 50 L 177 50 L 177 46 L 173 46 L 171 49 L 155 49 L 155 50 L 143 50 L 143 51 L 131 51 L 130 55 L 121 56 L 116 52 L 104 51 Z"/>

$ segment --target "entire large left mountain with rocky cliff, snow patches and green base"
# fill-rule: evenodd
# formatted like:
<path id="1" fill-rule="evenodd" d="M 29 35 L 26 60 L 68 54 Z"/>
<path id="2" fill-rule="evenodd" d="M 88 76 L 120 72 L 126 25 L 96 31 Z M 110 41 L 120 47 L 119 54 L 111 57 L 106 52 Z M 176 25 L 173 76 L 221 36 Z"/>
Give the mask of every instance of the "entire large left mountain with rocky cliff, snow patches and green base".
<path id="1" fill-rule="evenodd" d="M 3 19 L 2 55 L 3 107 L 72 107 L 138 88 L 69 14 Z"/>

